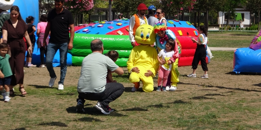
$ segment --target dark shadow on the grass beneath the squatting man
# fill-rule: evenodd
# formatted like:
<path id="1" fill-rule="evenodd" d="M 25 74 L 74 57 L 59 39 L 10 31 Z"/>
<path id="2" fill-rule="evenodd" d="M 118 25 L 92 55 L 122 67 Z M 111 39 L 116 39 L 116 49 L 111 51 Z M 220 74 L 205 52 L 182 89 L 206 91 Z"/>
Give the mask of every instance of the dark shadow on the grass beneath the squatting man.
<path id="1" fill-rule="evenodd" d="M 87 105 L 92 105 L 92 104 L 87 104 Z M 86 106 L 86 105 L 85 105 Z M 96 108 L 94 107 L 85 107 L 84 108 L 85 112 L 83 113 L 78 113 L 78 114 L 88 114 L 88 115 L 106 115 L 101 113 L 101 111 L 98 111 Z M 76 106 L 72 106 L 69 108 L 66 108 L 67 113 L 76 113 Z M 110 116 L 125 116 L 119 113 L 116 113 L 117 110 L 114 109 L 114 112 L 110 113 Z M 79 119 L 78 119 L 79 120 Z"/>

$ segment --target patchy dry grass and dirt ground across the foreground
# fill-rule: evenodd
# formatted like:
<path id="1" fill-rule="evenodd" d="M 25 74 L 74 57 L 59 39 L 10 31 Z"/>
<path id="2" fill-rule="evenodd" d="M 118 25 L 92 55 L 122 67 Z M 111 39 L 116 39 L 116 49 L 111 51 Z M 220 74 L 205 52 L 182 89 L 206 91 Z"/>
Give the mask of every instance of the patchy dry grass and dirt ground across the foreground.
<path id="1" fill-rule="evenodd" d="M 197 78 L 187 77 L 191 66 L 179 67 L 180 82 L 174 92 L 146 93 L 141 88 L 130 92 L 133 84 L 127 71 L 122 76 L 113 73 L 125 92 L 110 103 L 116 111 L 109 115 L 93 108 L 97 101 L 86 101 L 85 113 L 76 113 L 80 66 L 68 67 L 63 91 L 56 84 L 60 67 L 54 68 L 58 76 L 54 87 L 47 87 L 46 68 L 25 68 L 28 94 L 22 96 L 16 86 L 9 103 L 0 101 L 0 130 L 260 130 L 261 75 L 231 75 L 233 53 L 212 51 L 208 79 L 198 78 L 203 74 L 201 66 Z"/>

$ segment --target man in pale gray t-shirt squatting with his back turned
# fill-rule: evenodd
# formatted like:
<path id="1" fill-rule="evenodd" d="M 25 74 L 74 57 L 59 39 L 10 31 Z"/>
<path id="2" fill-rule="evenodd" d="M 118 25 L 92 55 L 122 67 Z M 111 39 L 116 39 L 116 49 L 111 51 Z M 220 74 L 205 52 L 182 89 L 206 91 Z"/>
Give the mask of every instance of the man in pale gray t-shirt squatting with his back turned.
<path id="1" fill-rule="evenodd" d="M 103 43 L 99 39 L 91 41 L 92 53 L 82 61 L 81 75 L 77 90 L 79 93 L 76 105 L 77 112 L 85 112 L 83 105 L 86 100 L 97 101 L 94 106 L 104 114 L 109 114 L 114 109 L 109 103 L 119 98 L 124 92 L 124 86 L 120 83 L 106 83 L 108 69 L 122 75 L 123 69 L 117 66 L 112 59 L 104 56 Z"/>

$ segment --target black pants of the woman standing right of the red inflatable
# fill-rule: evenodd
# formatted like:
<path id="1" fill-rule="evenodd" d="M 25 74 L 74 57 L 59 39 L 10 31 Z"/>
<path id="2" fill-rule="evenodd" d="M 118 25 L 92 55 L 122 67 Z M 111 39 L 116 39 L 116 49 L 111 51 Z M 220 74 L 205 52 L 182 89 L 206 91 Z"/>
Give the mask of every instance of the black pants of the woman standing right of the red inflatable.
<path id="1" fill-rule="evenodd" d="M 192 61 L 192 69 L 197 69 L 198 68 L 198 63 L 199 61 L 201 62 L 201 67 L 203 71 L 208 71 L 208 66 L 206 63 L 206 48 L 204 45 L 197 45 L 194 58 Z"/>

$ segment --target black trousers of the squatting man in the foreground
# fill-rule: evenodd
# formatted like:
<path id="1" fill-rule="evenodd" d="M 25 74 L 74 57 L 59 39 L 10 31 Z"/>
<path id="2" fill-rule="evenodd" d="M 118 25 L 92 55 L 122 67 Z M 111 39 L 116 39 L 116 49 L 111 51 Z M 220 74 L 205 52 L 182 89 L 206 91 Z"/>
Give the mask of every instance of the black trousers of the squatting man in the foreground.
<path id="1" fill-rule="evenodd" d="M 124 92 L 124 86 L 120 83 L 107 83 L 105 90 L 100 93 L 92 92 L 78 92 L 78 99 L 81 99 L 83 103 L 86 100 L 99 101 L 102 105 L 109 105 L 110 102 L 119 98 Z M 77 99 L 77 101 L 78 101 Z"/>

